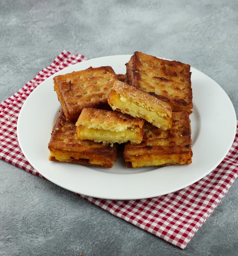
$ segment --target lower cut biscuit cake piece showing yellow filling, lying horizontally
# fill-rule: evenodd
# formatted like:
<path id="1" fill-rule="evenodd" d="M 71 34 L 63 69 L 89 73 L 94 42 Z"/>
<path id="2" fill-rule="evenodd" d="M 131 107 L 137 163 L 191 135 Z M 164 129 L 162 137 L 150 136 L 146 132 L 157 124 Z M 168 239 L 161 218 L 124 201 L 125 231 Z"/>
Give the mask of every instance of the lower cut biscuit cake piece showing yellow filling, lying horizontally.
<path id="1" fill-rule="evenodd" d="M 103 143 L 140 143 L 144 120 L 121 112 L 84 108 L 76 122 L 76 138 Z"/>

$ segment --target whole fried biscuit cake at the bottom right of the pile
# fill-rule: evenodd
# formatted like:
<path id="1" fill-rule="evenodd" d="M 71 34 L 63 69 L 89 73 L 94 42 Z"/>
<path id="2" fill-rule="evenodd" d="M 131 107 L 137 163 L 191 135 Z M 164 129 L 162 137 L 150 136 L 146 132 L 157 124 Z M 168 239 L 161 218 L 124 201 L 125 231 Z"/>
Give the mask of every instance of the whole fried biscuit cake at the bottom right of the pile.
<path id="1" fill-rule="evenodd" d="M 187 111 L 173 112 L 173 125 L 162 130 L 149 123 L 140 144 L 125 144 L 127 167 L 191 164 L 191 126 Z"/>

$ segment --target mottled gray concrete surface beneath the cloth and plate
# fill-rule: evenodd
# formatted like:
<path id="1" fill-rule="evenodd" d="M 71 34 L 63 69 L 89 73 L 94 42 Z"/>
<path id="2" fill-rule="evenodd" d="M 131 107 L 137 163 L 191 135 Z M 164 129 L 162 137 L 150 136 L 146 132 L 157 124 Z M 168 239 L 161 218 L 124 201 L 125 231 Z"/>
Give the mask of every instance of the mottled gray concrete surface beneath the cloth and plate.
<path id="1" fill-rule="evenodd" d="M 238 113 L 237 0 L 0 0 L 0 101 L 64 49 L 147 54 L 204 72 Z M 0 160 L 0 255 L 238 255 L 238 181 L 185 250 Z"/>

